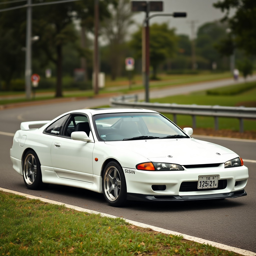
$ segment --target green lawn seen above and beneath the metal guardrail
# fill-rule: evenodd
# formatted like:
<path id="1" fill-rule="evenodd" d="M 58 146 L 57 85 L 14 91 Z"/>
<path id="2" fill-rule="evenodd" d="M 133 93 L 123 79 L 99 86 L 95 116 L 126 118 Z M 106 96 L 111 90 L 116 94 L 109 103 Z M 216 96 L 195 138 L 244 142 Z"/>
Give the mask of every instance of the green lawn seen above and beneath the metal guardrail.
<path id="1" fill-rule="evenodd" d="M 232 87 L 232 86 L 231 86 Z M 198 105 L 220 105 L 235 106 L 239 102 L 256 101 L 256 88 L 239 95 L 207 95 L 206 92 L 195 92 L 188 95 L 176 95 L 160 99 L 151 99 L 151 102 L 177 103 L 177 104 L 198 104 Z M 163 113 L 167 118 L 173 120 L 172 114 Z M 177 115 L 178 126 L 192 126 L 192 118 L 189 115 Z M 199 128 L 214 128 L 214 118 L 196 116 L 196 126 Z M 219 118 L 219 129 L 231 129 L 239 131 L 239 121 L 235 118 Z M 255 120 L 244 120 L 245 131 L 255 131 Z"/>

